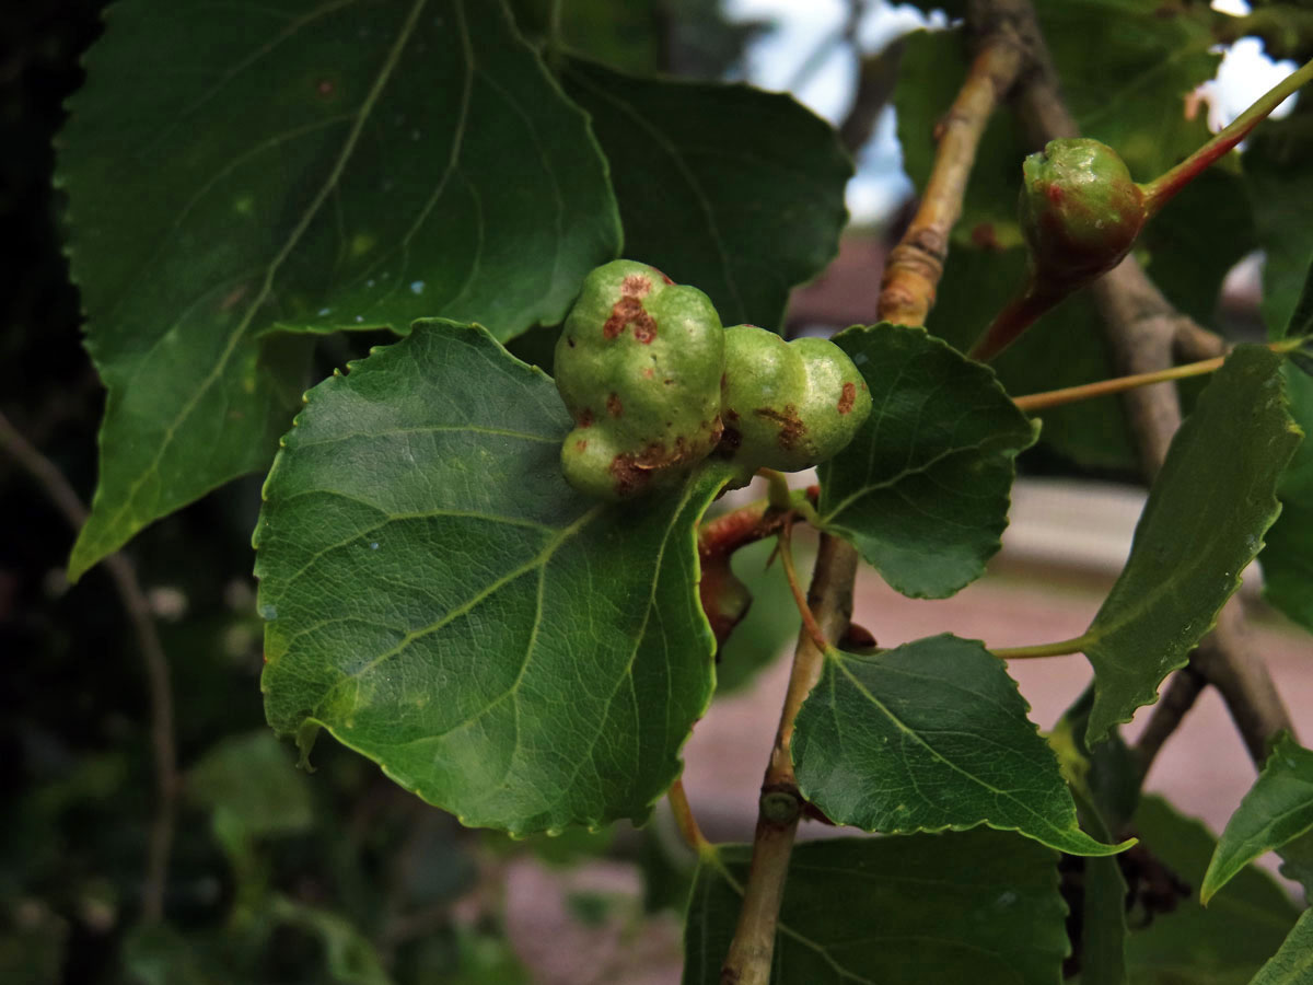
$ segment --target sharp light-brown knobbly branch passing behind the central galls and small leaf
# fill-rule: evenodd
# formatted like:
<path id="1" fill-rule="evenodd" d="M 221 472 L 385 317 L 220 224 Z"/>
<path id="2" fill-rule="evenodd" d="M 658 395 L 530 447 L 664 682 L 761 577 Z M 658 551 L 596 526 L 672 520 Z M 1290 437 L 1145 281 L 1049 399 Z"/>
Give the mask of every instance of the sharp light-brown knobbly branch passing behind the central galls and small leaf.
<path id="1" fill-rule="evenodd" d="M 1023 66 L 1024 49 L 1011 24 L 974 20 L 976 7 L 969 21 L 981 28 L 973 35 L 977 55 L 957 98 L 940 122 L 935 165 L 920 208 L 885 267 L 878 306 L 882 320 L 924 322 L 944 271 L 949 232 L 961 215 L 979 138 Z M 822 535 L 807 605 L 826 640 L 839 640 L 848 628 L 856 577 L 857 552 L 846 541 Z M 767 985 L 771 978 L 780 902 L 802 813 L 802 797 L 793 776 L 793 722 L 823 666 L 825 653 L 804 628 L 758 801 L 752 864 L 734 940 L 721 968 L 722 985 Z"/>

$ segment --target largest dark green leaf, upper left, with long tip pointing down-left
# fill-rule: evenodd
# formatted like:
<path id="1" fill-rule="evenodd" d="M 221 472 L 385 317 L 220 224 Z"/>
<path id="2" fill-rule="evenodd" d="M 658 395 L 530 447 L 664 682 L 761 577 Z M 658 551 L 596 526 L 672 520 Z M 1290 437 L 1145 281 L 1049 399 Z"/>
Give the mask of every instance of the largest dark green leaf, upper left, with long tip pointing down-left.
<path id="1" fill-rule="evenodd" d="M 76 578 L 264 468 L 305 387 L 270 332 L 557 320 L 620 229 L 587 120 L 500 0 L 116 5 L 59 183 L 109 387 Z"/>

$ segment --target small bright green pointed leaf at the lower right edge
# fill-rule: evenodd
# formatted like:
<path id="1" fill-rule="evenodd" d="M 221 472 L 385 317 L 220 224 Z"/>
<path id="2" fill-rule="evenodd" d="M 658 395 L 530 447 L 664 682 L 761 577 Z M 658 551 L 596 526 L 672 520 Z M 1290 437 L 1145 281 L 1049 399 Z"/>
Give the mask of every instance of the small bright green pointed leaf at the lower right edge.
<path id="1" fill-rule="evenodd" d="M 1245 865 L 1313 829 L 1313 753 L 1288 733 L 1272 747 L 1263 771 L 1217 842 L 1199 890 L 1203 902 Z"/>

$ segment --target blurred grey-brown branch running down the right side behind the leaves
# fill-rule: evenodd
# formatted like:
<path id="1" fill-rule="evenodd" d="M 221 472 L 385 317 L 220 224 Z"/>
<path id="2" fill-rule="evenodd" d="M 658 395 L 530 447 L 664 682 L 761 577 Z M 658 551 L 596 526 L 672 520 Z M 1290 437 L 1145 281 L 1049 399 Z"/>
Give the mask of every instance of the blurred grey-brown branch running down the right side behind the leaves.
<path id="1" fill-rule="evenodd" d="M 1032 45 L 1031 70 L 1016 93 L 1018 112 L 1031 142 L 1043 146 L 1057 137 L 1078 135 L 1075 121 L 1062 102 L 1044 39 L 1035 26 L 1029 0 L 981 1 L 1001 16 L 1014 18 L 1018 34 Z M 1174 348 L 1182 344 L 1184 317 L 1150 282 L 1134 257 L 1123 260 L 1090 290 L 1103 315 L 1106 338 L 1120 373 L 1154 373 L 1173 365 Z M 1192 330 L 1184 334 L 1191 344 L 1201 344 L 1205 338 Z M 1171 383 L 1158 383 L 1130 390 L 1123 401 L 1141 471 L 1152 483 L 1180 426 L 1176 390 Z M 1241 623 L 1239 602 L 1232 599 L 1218 615 L 1215 632 L 1191 655 L 1191 665 L 1218 690 L 1250 756 L 1262 763 L 1268 738 L 1280 729 L 1289 729 L 1291 720 L 1262 661 L 1257 654 L 1245 654 Z M 1178 717 L 1173 728 L 1179 721 Z M 1158 745 L 1165 739 L 1166 734 L 1154 738 Z"/>

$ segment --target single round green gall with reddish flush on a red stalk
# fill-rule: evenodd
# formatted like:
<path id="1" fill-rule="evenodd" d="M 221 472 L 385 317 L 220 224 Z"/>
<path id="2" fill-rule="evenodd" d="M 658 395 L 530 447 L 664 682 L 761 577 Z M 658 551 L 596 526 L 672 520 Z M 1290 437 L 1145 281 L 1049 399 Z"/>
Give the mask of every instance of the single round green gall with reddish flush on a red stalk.
<path id="1" fill-rule="evenodd" d="M 1083 284 L 1111 271 L 1148 218 L 1142 189 L 1099 141 L 1049 141 L 1022 173 L 1022 232 L 1040 277 Z"/>

